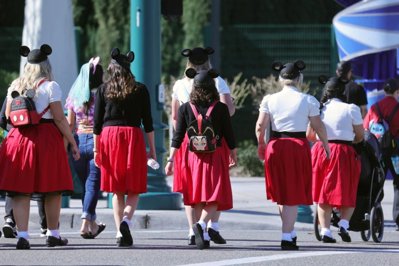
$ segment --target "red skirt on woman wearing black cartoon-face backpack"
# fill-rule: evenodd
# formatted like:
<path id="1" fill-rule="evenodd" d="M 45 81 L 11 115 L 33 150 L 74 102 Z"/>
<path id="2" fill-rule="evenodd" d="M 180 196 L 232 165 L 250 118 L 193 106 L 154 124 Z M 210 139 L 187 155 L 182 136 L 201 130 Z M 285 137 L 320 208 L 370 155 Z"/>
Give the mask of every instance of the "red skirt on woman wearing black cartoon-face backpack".
<path id="1" fill-rule="evenodd" d="M 185 175 L 182 176 L 184 205 L 217 202 L 218 211 L 233 208 L 229 160 L 224 148 L 216 147 L 214 152 L 209 153 L 185 149 L 185 164 Z"/>

